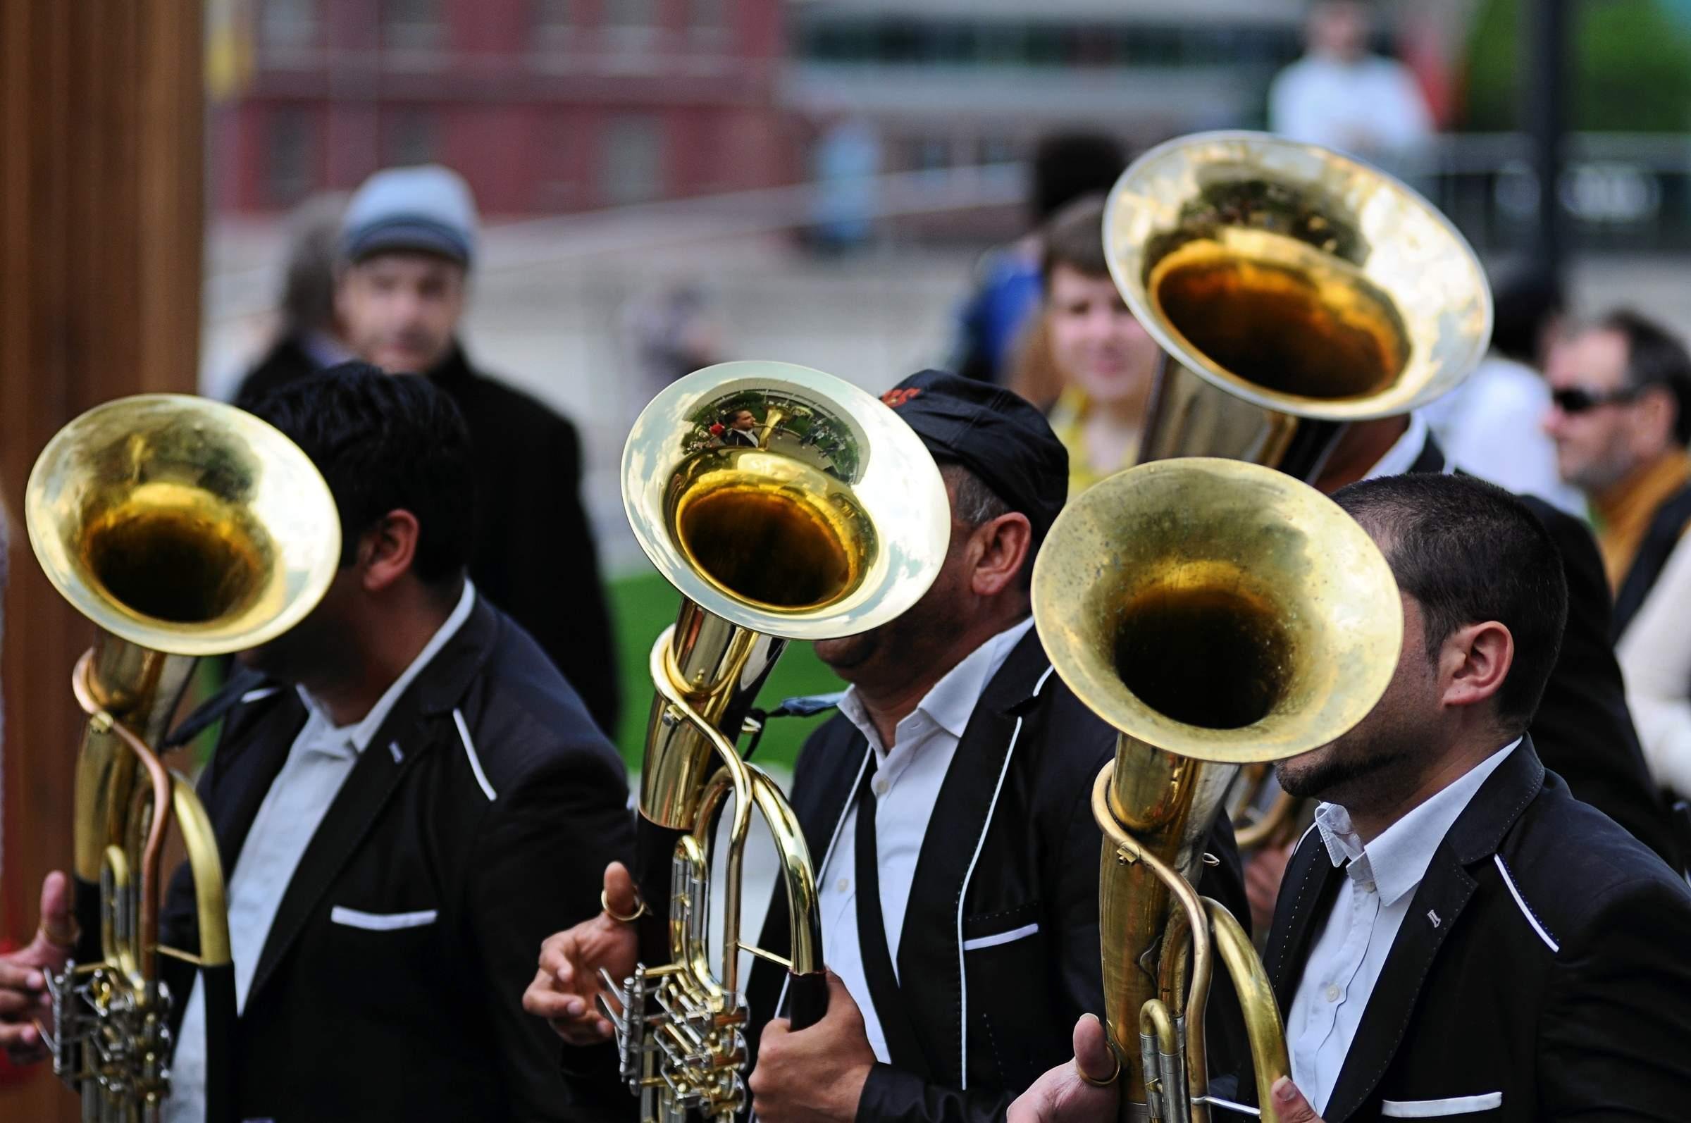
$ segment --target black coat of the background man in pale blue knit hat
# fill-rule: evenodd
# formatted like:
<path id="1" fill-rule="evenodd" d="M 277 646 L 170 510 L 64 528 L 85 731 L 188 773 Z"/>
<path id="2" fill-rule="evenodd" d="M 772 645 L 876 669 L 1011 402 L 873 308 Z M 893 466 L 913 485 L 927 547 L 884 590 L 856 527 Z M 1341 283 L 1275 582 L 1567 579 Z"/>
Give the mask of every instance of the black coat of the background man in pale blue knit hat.
<path id="1" fill-rule="evenodd" d="M 460 347 L 430 379 L 451 394 L 475 453 L 477 545 L 470 577 L 563 671 L 599 727 L 622 714 L 610 609 L 582 506 L 575 426 L 470 367 Z"/>

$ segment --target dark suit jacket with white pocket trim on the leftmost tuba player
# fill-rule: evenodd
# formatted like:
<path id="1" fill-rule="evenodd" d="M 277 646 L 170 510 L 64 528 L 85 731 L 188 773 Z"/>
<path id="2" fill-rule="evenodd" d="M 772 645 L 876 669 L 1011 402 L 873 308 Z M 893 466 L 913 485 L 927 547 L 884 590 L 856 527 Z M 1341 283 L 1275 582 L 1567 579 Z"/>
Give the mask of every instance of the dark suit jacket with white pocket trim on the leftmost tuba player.
<path id="1" fill-rule="evenodd" d="M 259 682 L 232 685 L 247 702 L 200 781 L 227 871 L 306 719 L 298 692 Z M 541 940 L 599 912 L 600 871 L 631 849 L 622 761 L 534 641 L 480 600 L 358 758 L 282 895 L 237 1023 L 237 1118 L 619 1118 L 614 1057 L 602 1050 L 602 1086 L 566 1086 L 523 989 Z M 337 908 L 438 917 L 370 930 Z M 200 944 L 186 871 L 164 939 Z M 186 994 L 183 964 L 164 962 Z"/>

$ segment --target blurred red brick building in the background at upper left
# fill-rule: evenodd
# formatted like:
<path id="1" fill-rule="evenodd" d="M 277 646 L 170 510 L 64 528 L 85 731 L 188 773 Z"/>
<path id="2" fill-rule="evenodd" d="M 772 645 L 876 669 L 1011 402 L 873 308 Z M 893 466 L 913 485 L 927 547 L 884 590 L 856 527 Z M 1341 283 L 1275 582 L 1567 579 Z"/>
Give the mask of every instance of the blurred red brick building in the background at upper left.
<path id="1" fill-rule="evenodd" d="M 213 201 L 287 208 L 389 164 L 528 215 L 788 183 L 783 0 L 247 0 Z"/>

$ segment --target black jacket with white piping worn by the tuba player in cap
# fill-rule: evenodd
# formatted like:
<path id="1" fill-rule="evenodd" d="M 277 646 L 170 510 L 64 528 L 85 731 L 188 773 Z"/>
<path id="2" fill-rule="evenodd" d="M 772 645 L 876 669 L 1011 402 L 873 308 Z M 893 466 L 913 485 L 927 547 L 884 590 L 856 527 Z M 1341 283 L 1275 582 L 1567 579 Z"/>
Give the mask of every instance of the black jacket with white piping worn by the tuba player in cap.
<path id="1" fill-rule="evenodd" d="M 933 805 L 898 944 L 900 993 L 874 994 L 883 1020 L 898 1005 L 910 1011 L 920 1055 L 874 1067 L 857 1104 L 861 1121 L 999 1118 L 1010 1099 L 1070 1055 L 1081 1013 L 1103 1016 L 1103 835 L 1091 793 L 1114 753 L 1114 731 L 1052 673 L 1030 631 L 981 695 Z M 856 807 L 867 756 L 862 734 L 842 715 L 805 742 L 793 808 L 817 869 Z M 1221 864 L 1206 869 L 1202 891 L 1248 923 L 1224 815 L 1207 849 Z M 1016 935 L 991 942 L 1006 934 Z M 788 944 L 780 900 L 761 944 Z M 774 1016 L 783 979 L 764 961 L 754 967 L 754 1032 Z M 1226 993 L 1212 1006 L 1221 1011 L 1233 998 L 1219 979 L 1218 993 Z M 1231 1025 L 1218 1013 L 1211 1040 L 1221 1055 L 1240 1040 Z"/>

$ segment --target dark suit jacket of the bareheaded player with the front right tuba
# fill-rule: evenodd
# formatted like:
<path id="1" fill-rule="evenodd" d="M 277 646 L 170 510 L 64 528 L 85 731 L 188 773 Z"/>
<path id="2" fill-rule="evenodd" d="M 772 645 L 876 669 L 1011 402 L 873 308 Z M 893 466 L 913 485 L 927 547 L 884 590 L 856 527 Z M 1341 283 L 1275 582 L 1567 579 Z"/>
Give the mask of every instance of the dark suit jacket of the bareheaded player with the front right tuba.
<path id="1" fill-rule="evenodd" d="M 1305 832 L 1268 934 L 1282 1010 L 1343 878 L 1319 832 Z M 1686 949 L 1686 883 L 1573 798 L 1529 737 L 1486 778 L 1427 866 L 1326 1123 L 1382 1118 L 1387 1101 L 1490 1096 L 1500 1103 L 1424 1111 L 1476 1123 L 1684 1120 Z"/>

